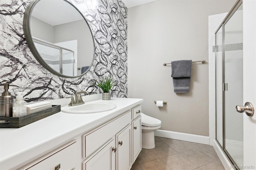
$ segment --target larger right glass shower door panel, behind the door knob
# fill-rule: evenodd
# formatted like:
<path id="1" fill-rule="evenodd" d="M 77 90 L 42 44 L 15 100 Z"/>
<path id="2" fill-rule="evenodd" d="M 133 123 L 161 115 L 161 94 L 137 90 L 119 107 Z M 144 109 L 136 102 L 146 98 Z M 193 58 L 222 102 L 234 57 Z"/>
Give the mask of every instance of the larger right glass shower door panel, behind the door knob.
<path id="1" fill-rule="evenodd" d="M 243 13 L 242 4 L 224 24 L 224 150 L 236 165 L 243 164 Z"/>

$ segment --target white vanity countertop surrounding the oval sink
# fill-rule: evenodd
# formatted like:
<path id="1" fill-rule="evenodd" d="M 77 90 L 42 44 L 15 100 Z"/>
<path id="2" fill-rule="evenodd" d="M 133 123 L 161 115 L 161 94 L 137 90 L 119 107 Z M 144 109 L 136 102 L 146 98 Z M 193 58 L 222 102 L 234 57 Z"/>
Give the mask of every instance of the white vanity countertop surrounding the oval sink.
<path id="1" fill-rule="evenodd" d="M 111 98 L 106 102 L 117 106 L 111 111 L 90 114 L 59 112 L 21 128 L 0 128 L 0 169 L 22 164 L 63 141 L 113 119 L 142 101 L 143 99 Z"/>

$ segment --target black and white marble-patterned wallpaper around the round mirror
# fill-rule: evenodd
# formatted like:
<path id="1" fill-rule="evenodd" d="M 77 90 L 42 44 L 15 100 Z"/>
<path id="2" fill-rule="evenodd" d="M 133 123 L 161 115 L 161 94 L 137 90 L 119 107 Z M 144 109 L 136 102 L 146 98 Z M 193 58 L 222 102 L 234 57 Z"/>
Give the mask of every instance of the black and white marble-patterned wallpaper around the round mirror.
<path id="1" fill-rule="evenodd" d="M 95 41 L 95 59 L 85 75 L 63 78 L 44 69 L 28 48 L 22 25 L 31 1 L 1 0 L 0 83 L 17 85 L 10 87 L 12 95 L 25 92 L 24 99 L 30 102 L 70 97 L 76 91 L 101 93 L 94 83 L 102 76 L 111 75 L 115 84 L 112 97 L 127 97 L 127 8 L 124 3 L 121 0 L 68 0 L 88 21 Z"/>

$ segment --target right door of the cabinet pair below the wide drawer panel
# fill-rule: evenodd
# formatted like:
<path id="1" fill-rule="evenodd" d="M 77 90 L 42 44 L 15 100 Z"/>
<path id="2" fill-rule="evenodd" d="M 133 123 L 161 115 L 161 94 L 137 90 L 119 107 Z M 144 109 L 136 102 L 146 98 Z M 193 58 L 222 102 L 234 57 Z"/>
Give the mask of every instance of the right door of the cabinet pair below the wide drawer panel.
<path id="1" fill-rule="evenodd" d="M 132 166 L 132 127 L 128 125 L 116 134 L 116 166 L 117 170 L 129 170 Z"/>

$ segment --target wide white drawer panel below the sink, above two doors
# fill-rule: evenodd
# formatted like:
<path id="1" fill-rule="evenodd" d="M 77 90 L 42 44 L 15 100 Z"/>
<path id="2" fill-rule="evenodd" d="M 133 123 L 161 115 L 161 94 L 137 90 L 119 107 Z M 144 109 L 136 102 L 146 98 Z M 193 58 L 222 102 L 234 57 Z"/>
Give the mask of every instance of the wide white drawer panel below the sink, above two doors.
<path id="1" fill-rule="evenodd" d="M 131 111 L 128 111 L 113 121 L 82 135 L 83 158 L 88 157 L 130 123 Z"/>

